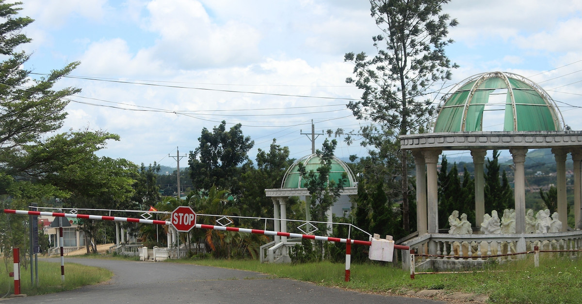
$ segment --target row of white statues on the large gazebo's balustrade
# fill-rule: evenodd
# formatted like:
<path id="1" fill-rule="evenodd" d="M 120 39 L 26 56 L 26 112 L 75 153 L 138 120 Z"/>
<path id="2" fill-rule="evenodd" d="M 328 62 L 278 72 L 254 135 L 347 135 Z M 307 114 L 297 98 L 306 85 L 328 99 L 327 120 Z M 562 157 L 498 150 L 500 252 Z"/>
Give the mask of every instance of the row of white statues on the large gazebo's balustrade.
<path id="1" fill-rule="evenodd" d="M 461 214 L 454 210 L 449 216 L 449 234 L 473 234 L 471 223 L 467 220 L 467 214 Z M 540 210 L 534 218 L 534 211 L 527 210 L 526 213 L 526 233 L 557 233 L 562 230 L 562 222 L 558 220 L 558 212 L 554 212 L 552 217 L 549 209 Z M 481 223 L 481 233 L 483 234 L 508 234 L 515 233 L 515 210 L 503 210 L 503 217 L 499 219 L 496 210 L 483 216 Z"/>

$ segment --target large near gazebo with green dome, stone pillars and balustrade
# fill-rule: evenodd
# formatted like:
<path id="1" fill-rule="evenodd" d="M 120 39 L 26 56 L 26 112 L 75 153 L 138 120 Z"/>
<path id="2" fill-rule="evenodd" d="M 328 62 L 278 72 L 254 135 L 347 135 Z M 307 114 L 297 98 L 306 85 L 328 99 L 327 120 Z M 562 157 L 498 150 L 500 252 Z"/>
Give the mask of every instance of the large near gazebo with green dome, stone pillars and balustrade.
<path id="1" fill-rule="evenodd" d="M 484 123 L 495 123 L 501 130 L 484 130 Z M 417 252 L 446 255 L 452 242 L 486 242 L 501 246 L 515 242 L 517 252 L 526 251 L 535 239 L 548 237 L 560 244 L 580 246 L 580 231 L 568 231 L 566 202 L 566 156 L 574 161 L 574 219 L 581 227 L 582 131 L 572 131 L 552 98 L 533 81 L 517 74 L 494 71 L 471 76 L 443 99 L 432 133 L 402 135 L 401 149 L 411 151 L 417 176 L 418 237 L 403 243 Z M 486 124 L 486 126 L 488 126 Z M 494 128 L 495 129 L 495 128 Z M 551 148 L 557 167 L 558 213 L 562 232 L 526 234 L 525 168 L 528 149 Z M 514 163 L 515 234 L 439 234 L 437 163 L 443 151 L 470 151 L 475 166 L 475 219 L 478 227 L 485 214 L 484 160 L 488 150 L 509 150 Z M 426 178 L 423 178 L 425 177 Z M 502 210 L 498 210 L 501 212 Z M 449 246 L 449 247 L 448 247 Z M 449 249 L 447 249 L 449 248 Z M 449 250 L 449 251 L 447 251 Z M 469 249 L 471 251 L 471 249 Z M 475 254 L 476 252 L 469 252 Z M 487 252 L 479 252 L 486 255 Z M 491 250 L 488 251 L 491 254 Z M 406 264 L 407 259 L 403 259 Z M 407 267 L 406 265 L 404 267 Z"/>

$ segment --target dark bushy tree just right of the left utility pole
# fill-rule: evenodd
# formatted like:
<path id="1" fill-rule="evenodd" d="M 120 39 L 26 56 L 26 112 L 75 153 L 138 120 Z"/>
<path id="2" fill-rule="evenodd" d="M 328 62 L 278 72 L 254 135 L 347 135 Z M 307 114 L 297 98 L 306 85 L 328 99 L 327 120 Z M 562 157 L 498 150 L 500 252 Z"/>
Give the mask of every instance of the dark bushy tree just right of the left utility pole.
<path id="1" fill-rule="evenodd" d="M 249 160 L 247 153 L 253 148 L 254 141 L 244 137 L 242 125 L 235 124 L 226 131 L 226 121 L 212 132 L 202 129 L 198 138 L 200 145 L 190 152 L 190 174 L 195 189 L 208 190 L 213 185 L 228 189 L 230 194 L 242 192 L 237 186 L 241 169 L 239 166 Z"/>

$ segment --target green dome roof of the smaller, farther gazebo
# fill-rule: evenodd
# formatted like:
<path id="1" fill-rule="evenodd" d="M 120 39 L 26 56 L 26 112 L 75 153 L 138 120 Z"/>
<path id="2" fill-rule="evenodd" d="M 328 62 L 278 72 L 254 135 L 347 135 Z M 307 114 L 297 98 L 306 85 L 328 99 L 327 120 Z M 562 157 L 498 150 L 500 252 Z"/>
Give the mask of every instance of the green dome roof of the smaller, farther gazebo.
<path id="1" fill-rule="evenodd" d="M 315 153 L 296 160 L 296 162 L 294 162 L 285 173 L 281 188 L 306 188 L 306 181 L 299 173 L 299 163 L 303 163 L 303 166 L 305 166 L 307 172 L 317 172 L 317 169 L 319 169 L 321 166 L 321 158 L 317 155 L 317 153 Z M 350 170 L 347 164 L 342 162 L 342 160 L 333 156 L 331 171 L 329 172 L 329 180 L 333 180 L 335 183 L 338 183 L 343 173 L 347 174 L 347 181 L 343 184 L 343 187 L 356 187 L 356 182 L 352 170 Z"/>

